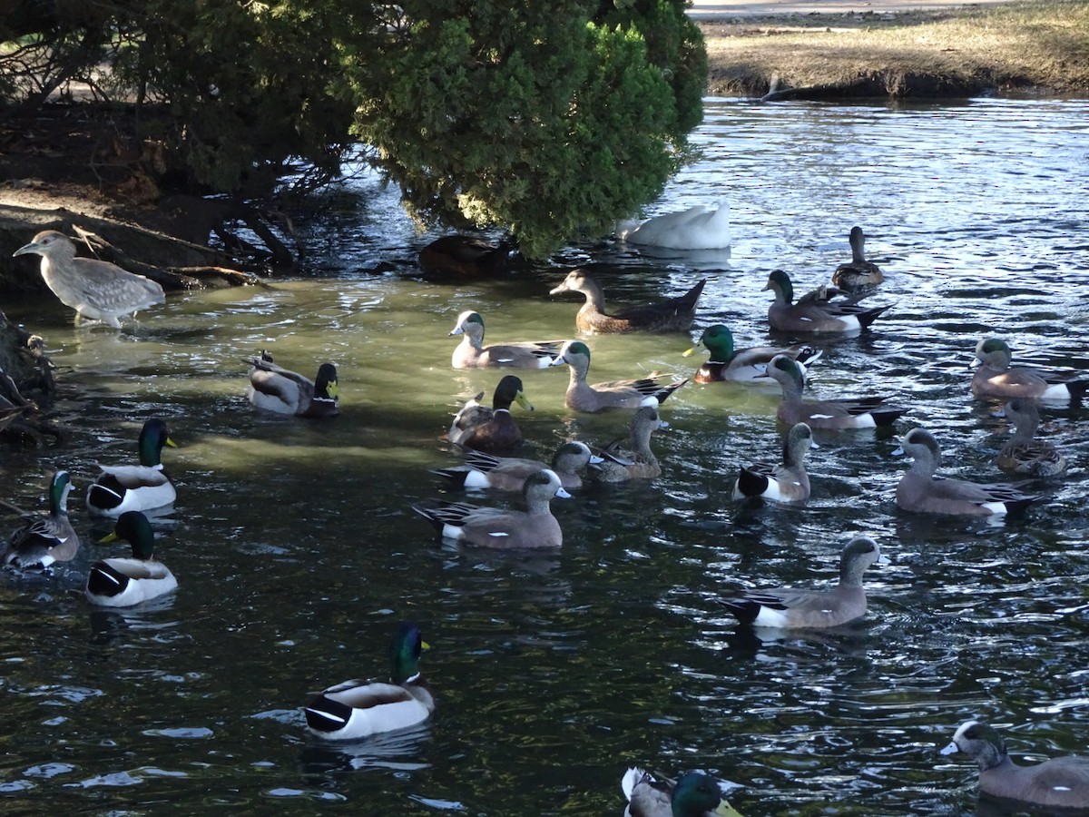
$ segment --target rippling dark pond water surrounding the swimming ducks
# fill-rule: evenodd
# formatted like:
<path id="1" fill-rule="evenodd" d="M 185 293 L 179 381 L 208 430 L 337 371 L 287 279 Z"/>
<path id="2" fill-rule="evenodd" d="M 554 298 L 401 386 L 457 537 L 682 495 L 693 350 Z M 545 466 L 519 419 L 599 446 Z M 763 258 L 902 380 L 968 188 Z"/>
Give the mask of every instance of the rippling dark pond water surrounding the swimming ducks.
<path id="1" fill-rule="evenodd" d="M 478 309 L 489 341 L 571 337 L 578 301 L 548 291 L 574 266 L 615 303 L 708 278 L 692 337 L 588 340 L 591 380 L 689 373 L 702 327 L 741 346 L 769 340 L 768 272 L 798 291 L 828 281 L 854 224 L 885 271 L 872 331 L 821 339 L 810 390 L 872 391 L 925 425 L 945 473 L 1003 480 L 1008 434 L 968 390 L 982 336 L 1019 362 L 1087 364 L 1089 105 L 758 105 L 708 100 L 702 158 L 647 215 L 727 198 L 734 245 L 653 254 L 573 246 L 551 263 L 457 285 L 416 277 L 417 234 L 393 192 L 309 225 L 314 275 L 268 289 L 171 296 L 125 332 L 76 328 L 53 300 L 9 315 L 45 336 L 71 440 L 4 450 L 0 497 L 41 508 L 48 474 L 72 472 L 72 517 L 105 533 L 82 488 L 95 463 L 131 459 L 142 423 L 170 425 L 179 486 L 158 553 L 175 595 L 100 611 L 78 593 L 86 545 L 52 576 L 0 575 L 0 814 L 396 814 L 623 812 L 638 764 L 705 768 L 744 784 L 746 815 L 1018 814 L 981 804 L 975 767 L 942 757 L 969 718 L 1014 756 L 1082 752 L 1089 739 L 1089 441 L 1081 408 L 1047 407 L 1042 434 L 1067 476 L 1000 524 L 896 510 L 907 463 L 892 434 L 817 434 L 803 507 L 730 499 L 741 464 L 780 449 L 773 389 L 689 385 L 663 406 L 661 478 L 554 501 L 562 552 L 480 552 L 435 538 L 409 505 L 455 497 L 429 468 L 458 455 L 441 436 L 492 371 L 454 371 L 454 319 Z M 376 272 L 390 263 L 393 271 Z M 779 338 L 776 340 L 786 340 Z M 267 347 L 313 375 L 337 363 L 341 415 L 256 414 L 245 355 Z M 626 413 L 575 415 L 566 371 L 522 375 L 526 451 L 603 443 Z M 505 496 L 474 501 L 505 504 Z M 15 526 L 10 514 L 4 532 Z M 739 629 L 719 599 L 738 587 L 833 581 L 854 534 L 891 564 L 871 570 L 870 610 L 831 633 Z M 7 535 L 7 533 L 5 533 Z M 394 624 L 431 649 L 430 722 L 341 747 L 304 736 L 323 686 L 384 676 Z M 763 636 L 763 637 L 760 637 Z M 327 805 L 328 804 L 328 805 Z"/>

